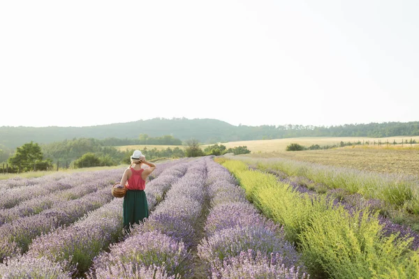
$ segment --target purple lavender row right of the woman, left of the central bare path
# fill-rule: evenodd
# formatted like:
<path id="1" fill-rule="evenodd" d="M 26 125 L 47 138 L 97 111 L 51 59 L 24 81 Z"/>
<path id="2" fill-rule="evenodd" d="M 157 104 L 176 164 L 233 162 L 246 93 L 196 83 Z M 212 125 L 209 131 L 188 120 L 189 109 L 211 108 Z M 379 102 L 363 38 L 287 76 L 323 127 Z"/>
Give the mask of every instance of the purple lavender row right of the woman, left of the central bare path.
<path id="1" fill-rule="evenodd" d="M 192 275 L 193 257 L 188 248 L 206 195 L 206 164 L 202 159 L 191 164 L 144 223 L 135 226 L 125 241 L 110 246 L 110 252 L 103 252 L 94 260 L 89 278 Z"/>

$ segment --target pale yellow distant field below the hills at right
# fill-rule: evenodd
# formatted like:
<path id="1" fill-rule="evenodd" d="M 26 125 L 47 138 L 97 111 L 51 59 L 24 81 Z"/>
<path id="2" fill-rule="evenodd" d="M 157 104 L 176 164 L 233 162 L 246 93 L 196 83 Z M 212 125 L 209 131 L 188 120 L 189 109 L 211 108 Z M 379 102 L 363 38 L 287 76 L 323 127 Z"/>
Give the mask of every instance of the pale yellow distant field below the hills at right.
<path id="1" fill-rule="evenodd" d="M 226 142 L 223 143 L 228 149 L 235 146 L 247 146 L 252 153 L 258 152 L 274 152 L 274 151 L 285 151 L 286 146 L 291 143 L 301 144 L 303 146 L 311 146 L 312 144 L 318 144 L 320 146 L 339 144 L 339 142 L 371 142 L 374 141 L 378 144 L 378 140 L 385 143 L 388 141 L 392 143 L 393 140 L 396 142 L 402 142 L 402 140 L 416 140 L 419 142 L 419 137 L 383 137 L 383 138 L 372 138 L 372 137 L 293 137 L 288 139 L 277 139 L 277 140 L 248 140 L 242 142 Z M 205 148 L 207 145 L 203 145 Z M 374 145 L 371 145 L 374 147 Z M 378 145 L 375 145 L 378 146 Z M 384 145 L 385 146 L 385 145 Z M 404 144 L 404 147 L 409 147 L 410 144 Z M 401 148 L 402 146 L 400 146 Z"/>

